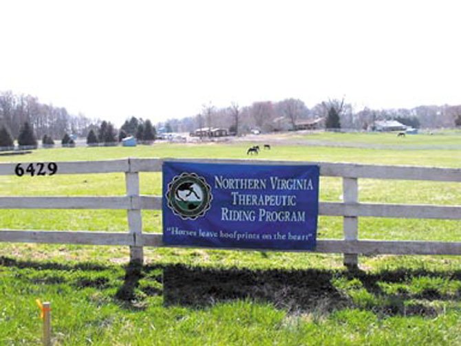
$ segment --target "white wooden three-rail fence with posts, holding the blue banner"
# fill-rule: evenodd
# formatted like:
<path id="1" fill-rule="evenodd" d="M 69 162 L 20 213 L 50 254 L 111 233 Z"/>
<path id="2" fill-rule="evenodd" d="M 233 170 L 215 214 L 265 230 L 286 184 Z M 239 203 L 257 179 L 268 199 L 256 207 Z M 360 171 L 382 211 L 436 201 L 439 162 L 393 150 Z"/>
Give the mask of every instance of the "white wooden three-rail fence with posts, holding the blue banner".
<path id="1" fill-rule="evenodd" d="M 461 206 L 360 203 L 358 202 L 358 178 L 461 182 L 461 169 L 268 160 L 129 158 L 108 161 L 57 162 L 58 171 L 56 174 L 60 175 L 124 172 L 127 193 L 122 197 L 0 197 L 0 208 L 125 209 L 129 224 L 128 232 L 0 229 L 0 241 L 129 246 L 131 261 L 142 262 L 142 248 L 144 246 L 161 247 L 164 244 L 162 244 L 161 233 L 142 233 L 141 210 L 161 209 L 162 197 L 140 195 L 139 172 L 159 172 L 162 170 L 163 160 L 232 164 L 319 164 L 321 176 L 343 177 L 343 202 L 319 202 L 319 215 L 342 216 L 344 239 L 318 239 L 317 248 L 314 252 L 343 253 L 345 255 L 344 263 L 347 266 L 357 265 L 358 254 L 461 255 L 461 241 L 358 240 L 358 217 L 461 219 Z M 22 164 L 24 167 L 27 165 L 28 163 Z M 14 175 L 16 167 L 16 163 L 0 164 L 0 175 Z"/>

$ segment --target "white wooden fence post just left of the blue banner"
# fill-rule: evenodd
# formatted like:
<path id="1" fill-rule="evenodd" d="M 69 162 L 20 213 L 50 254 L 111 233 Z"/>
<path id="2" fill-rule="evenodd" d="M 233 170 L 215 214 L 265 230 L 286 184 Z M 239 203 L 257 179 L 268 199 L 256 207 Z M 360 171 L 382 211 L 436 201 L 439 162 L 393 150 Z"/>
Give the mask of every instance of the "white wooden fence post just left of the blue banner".
<path id="1" fill-rule="evenodd" d="M 125 172 L 125 183 L 127 186 L 127 196 L 131 197 L 131 208 L 128 212 L 128 227 L 129 233 L 133 238 L 137 239 L 138 235 L 142 234 L 142 216 L 139 201 L 139 173 L 131 171 L 131 159 L 128 159 L 128 172 Z M 140 238 L 140 237 L 139 237 Z M 129 247 L 130 263 L 142 264 L 144 262 L 144 254 L 142 246 Z"/>

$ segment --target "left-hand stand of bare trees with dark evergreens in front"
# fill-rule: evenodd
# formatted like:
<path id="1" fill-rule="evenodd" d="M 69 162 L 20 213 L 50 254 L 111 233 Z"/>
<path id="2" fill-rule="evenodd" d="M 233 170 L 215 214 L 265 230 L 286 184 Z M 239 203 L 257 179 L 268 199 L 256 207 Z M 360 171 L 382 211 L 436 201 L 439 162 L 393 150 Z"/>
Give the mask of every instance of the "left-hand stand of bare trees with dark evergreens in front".
<path id="1" fill-rule="evenodd" d="M 14 147 L 14 140 L 21 147 L 37 147 L 39 138 L 43 147 L 54 146 L 54 140 L 74 147 L 75 137 L 86 137 L 90 145 L 114 145 L 127 136 L 150 143 L 156 139 L 156 128 L 151 120 L 131 117 L 118 130 L 111 122 L 69 114 L 64 107 L 45 105 L 34 96 L 0 92 L 0 147 Z"/>

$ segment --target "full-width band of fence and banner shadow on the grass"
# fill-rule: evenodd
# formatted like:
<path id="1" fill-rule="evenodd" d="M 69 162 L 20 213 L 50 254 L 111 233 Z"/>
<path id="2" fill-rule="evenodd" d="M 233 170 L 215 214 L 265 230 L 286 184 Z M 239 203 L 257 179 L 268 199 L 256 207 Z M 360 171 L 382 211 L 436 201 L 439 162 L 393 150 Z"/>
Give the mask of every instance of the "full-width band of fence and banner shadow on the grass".
<path id="1" fill-rule="evenodd" d="M 72 277 L 70 282 L 59 277 L 58 272 L 41 272 L 39 278 L 29 272 L 22 276 L 34 284 L 66 283 L 76 290 L 88 287 L 100 291 L 115 289 L 111 296 L 129 310 L 143 310 L 149 304 L 147 297 L 163 296 L 164 305 L 196 309 L 219 302 L 249 300 L 270 303 L 292 313 L 328 314 L 350 307 L 383 316 L 432 317 L 441 313 L 440 301 L 455 305 L 461 301 L 461 270 L 402 268 L 369 273 L 361 270 L 250 270 L 130 264 L 125 267 L 125 275 L 120 277 L 120 267 L 96 263 L 61 264 L 0 257 L 0 266 L 39 271 L 80 270 L 81 273 Z M 116 278 L 105 279 L 105 273 L 91 273 L 109 269 L 114 270 Z M 418 281 L 418 287 L 414 281 Z M 458 289 L 446 290 L 438 281 L 449 281 Z M 391 290 L 389 286 L 392 286 Z"/>

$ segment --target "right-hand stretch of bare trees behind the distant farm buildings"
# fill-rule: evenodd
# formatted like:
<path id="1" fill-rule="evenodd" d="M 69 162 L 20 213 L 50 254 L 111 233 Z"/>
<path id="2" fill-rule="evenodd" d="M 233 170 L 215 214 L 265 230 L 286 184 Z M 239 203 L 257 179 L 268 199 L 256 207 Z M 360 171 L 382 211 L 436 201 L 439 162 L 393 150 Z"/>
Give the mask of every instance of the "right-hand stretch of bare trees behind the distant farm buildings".
<path id="1" fill-rule="evenodd" d="M 371 129 L 378 120 L 398 120 L 414 128 L 436 129 L 461 126 L 461 105 L 422 105 L 411 109 L 356 110 L 344 99 L 329 99 L 308 108 L 302 100 L 288 98 L 279 102 L 253 102 L 249 106 L 232 103 L 218 108 L 211 103 L 203 105 L 195 116 L 169 119 L 158 126 L 174 132 L 191 132 L 204 127 L 228 129 L 231 133 L 248 133 L 251 129 L 265 132 L 288 131 L 300 122 L 325 119 L 325 127 L 332 129 Z"/>

